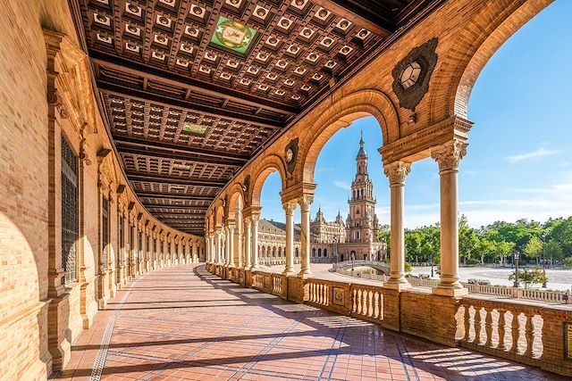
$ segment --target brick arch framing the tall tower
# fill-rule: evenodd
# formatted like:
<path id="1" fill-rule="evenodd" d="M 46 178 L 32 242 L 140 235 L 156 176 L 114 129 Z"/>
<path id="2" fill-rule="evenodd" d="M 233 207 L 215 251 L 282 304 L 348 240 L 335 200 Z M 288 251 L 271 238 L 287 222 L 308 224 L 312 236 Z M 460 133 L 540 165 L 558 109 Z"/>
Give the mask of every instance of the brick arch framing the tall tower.
<path id="1" fill-rule="evenodd" d="M 299 145 L 298 178 L 304 182 L 314 182 L 315 162 L 324 145 L 341 128 L 359 118 L 373 116 L 378 121 L 383 145 L 400 138 L 400 118 L 391 99 L 378 90 L 361 90 L 344 95 L 333 103 L 316 120 L 308 122 L 312 128 L 302 138 Z"/>

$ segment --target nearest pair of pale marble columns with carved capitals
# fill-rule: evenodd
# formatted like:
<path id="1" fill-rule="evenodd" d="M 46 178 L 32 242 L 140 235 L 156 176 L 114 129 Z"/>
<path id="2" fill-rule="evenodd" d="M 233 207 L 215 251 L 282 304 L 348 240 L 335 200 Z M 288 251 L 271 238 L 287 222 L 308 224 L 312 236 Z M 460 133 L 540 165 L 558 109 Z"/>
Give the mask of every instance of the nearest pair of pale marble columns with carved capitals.
<path id="1" fill-rule="evenodd" d="M 452 139 L 433 148 L 431 156 L 439 165 L 441 196 L 441 280 L 433 294 L 460 296 L 467 289 L 458 277 L 458 164 L 467 153 L 464 140 Z M 410 287 L 405 278 L 404 186 L 411 170 L 408 162 L 392 162 L 383 167 L 391 187 L 391 261 L 388 288 Z"/>

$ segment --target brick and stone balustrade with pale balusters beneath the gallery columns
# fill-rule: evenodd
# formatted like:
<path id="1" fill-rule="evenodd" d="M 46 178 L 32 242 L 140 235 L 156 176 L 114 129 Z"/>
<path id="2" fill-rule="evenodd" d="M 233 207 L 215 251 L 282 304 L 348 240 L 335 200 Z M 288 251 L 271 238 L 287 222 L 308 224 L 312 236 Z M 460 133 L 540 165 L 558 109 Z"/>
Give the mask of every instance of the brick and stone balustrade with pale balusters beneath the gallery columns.
<path id="1" fill-rule="evenodd" d="M 213 274 L 223 274 L 220 265 L 209 264 L 207 269 Z M 572 324 L 572 309 L 567 305 L 499 300 L 476 294 L 450 297 L 423 288 L 399 291 L 259 270 L 233 269 L 230 279 L 291 302 L 307 303 L 436 343 L 462 346 L 572 377 L 572 353 L 566 353 L 564 343 L 568 337 L 563 337 L 567 334 L 565 323 Z M 494 286 L 479 287 L 487 292 Z M 507 296 L 496 288 L 488 292 Z M 555 298 L 551 302 L 557 300 L 550 297 Z"/>

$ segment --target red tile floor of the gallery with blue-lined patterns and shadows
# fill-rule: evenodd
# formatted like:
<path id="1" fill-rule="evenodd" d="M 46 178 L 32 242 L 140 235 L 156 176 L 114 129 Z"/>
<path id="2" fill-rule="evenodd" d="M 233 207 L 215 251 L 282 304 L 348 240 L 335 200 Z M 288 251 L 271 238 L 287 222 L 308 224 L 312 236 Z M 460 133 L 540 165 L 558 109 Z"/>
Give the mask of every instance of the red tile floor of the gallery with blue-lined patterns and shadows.
<path id="1" fill-rule="evenodd" d="M 139 277 L 100 311 L 58 380 L 563 379 L 284 302 L 206 272 Z"/>

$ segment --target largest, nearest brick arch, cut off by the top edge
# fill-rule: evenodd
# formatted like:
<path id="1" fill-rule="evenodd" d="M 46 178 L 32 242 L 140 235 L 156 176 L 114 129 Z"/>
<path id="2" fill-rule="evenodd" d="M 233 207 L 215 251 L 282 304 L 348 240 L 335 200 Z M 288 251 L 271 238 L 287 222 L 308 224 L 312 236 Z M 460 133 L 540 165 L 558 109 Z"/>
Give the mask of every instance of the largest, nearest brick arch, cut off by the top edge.
<path id="1" fill-rule="evenodd" d="M 467 119 L 469 97 L 484 65 L 509 37 L 552 1 L 489 0 L 482 4 L 447 54 L 440 57 L 433 90 L 430 88 L 432 124 L 451 115 Z"/>

